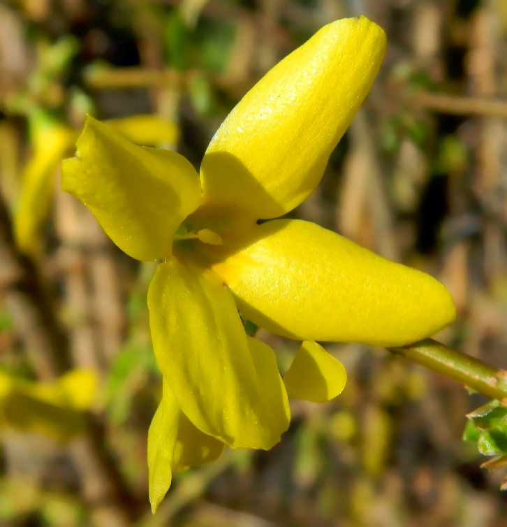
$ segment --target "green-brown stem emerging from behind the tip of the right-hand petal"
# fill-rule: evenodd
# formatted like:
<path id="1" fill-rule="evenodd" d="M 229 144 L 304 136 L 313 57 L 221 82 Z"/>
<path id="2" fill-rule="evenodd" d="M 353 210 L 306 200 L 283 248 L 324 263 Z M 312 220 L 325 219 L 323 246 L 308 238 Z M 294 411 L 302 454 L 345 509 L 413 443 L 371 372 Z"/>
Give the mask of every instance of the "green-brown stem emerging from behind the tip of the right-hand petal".
<path id="1" fill-rule="evenodd" d="M 493 399 L 507 399 L 506 370 L 494 368 L 432 338 L 411 345 L 388 347 L 388 350 L 460 382 L 480 394 Z"/>

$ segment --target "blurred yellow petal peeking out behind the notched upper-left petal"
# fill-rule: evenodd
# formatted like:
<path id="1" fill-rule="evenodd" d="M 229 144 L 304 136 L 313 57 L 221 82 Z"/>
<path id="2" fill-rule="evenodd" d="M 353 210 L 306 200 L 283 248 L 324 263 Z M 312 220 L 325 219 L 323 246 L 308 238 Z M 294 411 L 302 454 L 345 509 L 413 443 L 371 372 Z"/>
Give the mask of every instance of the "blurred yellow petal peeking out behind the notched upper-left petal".
<path id="1" fill-rule="evenodd" d="M 178 140 L 176 124 L 159 115 L 131 115 L 106 123 L 136 145 L 174 145 Z"/>

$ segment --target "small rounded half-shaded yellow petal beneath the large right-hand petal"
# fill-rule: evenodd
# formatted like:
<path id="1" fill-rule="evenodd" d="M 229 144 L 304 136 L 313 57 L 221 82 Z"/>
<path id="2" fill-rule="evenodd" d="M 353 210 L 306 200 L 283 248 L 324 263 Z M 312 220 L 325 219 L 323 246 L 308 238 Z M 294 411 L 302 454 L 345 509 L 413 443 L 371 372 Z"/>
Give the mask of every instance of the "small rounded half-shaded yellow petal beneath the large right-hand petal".
<path id="1" fill-rule="evenodd" d="M 300 345 L 284 375 L 289 397 L 325 403 L 341 394 L 347 382 L 344 365 L 316 342 Z"/>

